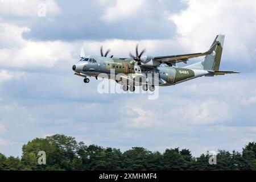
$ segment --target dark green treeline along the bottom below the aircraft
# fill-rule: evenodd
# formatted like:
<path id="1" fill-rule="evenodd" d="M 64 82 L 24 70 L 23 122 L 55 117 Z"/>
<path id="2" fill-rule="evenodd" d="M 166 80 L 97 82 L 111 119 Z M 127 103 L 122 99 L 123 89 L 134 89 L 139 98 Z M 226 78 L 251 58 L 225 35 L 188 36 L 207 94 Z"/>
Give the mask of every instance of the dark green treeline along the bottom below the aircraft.
<path id="1" fill-rule="evenodd" d="M 0 170 L 256 170 L 256 143 L 242 152 L 219 150 L 217 164 L 210 165 L 211 155 L 199 158 L 188 149 L 170 148 L 162 153 L 133 147 L 121 152 L 116 148 L 86 146 L 75 138 L 53 135 L 24 144 L 21 158 L 6 158 L 0 153 Z M 38 164 L 38 152 L 46 152 L 46 165 Z"/>

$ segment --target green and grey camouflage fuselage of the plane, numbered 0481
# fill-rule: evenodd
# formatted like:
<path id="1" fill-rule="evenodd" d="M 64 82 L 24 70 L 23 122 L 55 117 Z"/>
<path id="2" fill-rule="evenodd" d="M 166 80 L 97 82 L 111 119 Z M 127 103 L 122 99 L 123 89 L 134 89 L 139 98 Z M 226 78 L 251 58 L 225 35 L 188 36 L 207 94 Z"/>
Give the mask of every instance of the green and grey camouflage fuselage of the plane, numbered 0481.
<path id="1" fill-rule="evenodd" d="M 161 64 L 158 67 L 143 67 L 138 65 L 133 59 L 118 59 L 100 56 L 87 56 L 86 58 L 86 61 L 81 60 L 76 64 L 76 72 L 84 77 L 103 77 L 102 73 L 105 73 L 109 78 L 119 81 L 117 77 L 110 77 L 110 73 L 114 73 L 115 75 L 122 74 L 129 80 L 132 80 L 137 76 L 147 78 L 149 75 L 150 77 L 153 75 L 153 77 L 156 76 L 158 79 L 158 83 L 155 85 L 168 86 L 209 74 L 207 71 L 174 68 L 165 64 Z M 139 82 L 134 81 L 129 85 L 143 84 L 144 81 L 141 80 Z"/>

